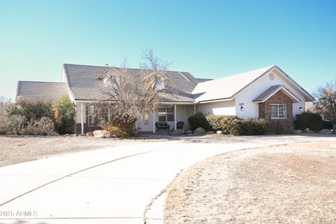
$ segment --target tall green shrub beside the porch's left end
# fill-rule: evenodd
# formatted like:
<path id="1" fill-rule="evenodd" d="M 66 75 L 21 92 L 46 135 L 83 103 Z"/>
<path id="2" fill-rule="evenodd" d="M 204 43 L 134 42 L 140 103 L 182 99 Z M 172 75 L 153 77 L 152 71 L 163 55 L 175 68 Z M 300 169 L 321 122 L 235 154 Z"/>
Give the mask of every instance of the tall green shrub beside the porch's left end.
<path id="1" fill-rule="evenodd" d="M 71 132 L 71 127 L 75 123 L 76 109 L 68 95 L 63 96 L 53 106 L 55 115 L 55 131 L 59 134 Z"/>

